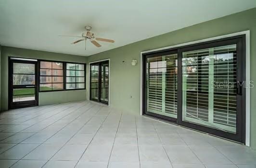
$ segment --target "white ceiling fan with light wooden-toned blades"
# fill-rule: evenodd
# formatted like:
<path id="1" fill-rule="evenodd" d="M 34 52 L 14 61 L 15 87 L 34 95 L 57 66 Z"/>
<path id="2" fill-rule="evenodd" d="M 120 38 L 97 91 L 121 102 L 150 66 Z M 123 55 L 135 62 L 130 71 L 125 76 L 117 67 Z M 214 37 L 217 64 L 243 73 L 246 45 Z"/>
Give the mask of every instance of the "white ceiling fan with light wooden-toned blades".
<path id="1" fill-rule="evenodd" d="M 80 37 L 81 39 L 74 41 L 71 44 L 76 44 L 79 43 L 81 41 L 85 41 L 85 49 L 86 49 L 86 40 L 90 40 L 90 42 L 96 46 L 96 47 L 101 47 L 101 45 L 97 42 L 97 41 L 104 41 L 104 42 L 109 42 L 109 43 L 114 43 L 114 40 L 111 39 L 106 39 L 106 38 L 98 38 L 94 36 L 94 33 L 92 33 L 91 30 L 91 26 L 86 25 L 85 29 L 87 32 L 82 33 L 82 36 L 67 36 L 67 37 Z M 97 40 L 97 41 L 96 41 Z"/>

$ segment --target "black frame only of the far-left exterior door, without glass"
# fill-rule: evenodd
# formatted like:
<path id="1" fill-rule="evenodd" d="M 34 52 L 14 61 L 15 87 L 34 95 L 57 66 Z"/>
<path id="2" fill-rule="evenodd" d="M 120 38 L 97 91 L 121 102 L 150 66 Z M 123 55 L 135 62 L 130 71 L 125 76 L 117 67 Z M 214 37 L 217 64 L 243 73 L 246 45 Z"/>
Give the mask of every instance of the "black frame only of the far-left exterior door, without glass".
<path id="1" fill-rule="evenodd" d="M 35 84 L 13 85 L 13 63 L 28 63 L 35 64 Z M 8 58 L 8 108 L 26 108 L 38 106 L 38 61 L 30 59 Z M 27 86 L 27 87 L 26 87 Z M 35 100 L 13 102 L 14 88 L 35 88 Z"/>

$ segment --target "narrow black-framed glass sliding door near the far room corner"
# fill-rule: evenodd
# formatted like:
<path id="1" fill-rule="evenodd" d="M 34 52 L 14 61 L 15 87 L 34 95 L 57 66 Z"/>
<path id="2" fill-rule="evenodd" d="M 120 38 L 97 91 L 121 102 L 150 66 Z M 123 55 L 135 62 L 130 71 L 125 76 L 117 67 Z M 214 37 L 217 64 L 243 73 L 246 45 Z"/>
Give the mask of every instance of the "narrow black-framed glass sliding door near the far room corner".
<path id="1" fill-rule="evenodd" d="M 109 63 L 107 61 L 90 64 L 90 100 L 108 105 Z"/>

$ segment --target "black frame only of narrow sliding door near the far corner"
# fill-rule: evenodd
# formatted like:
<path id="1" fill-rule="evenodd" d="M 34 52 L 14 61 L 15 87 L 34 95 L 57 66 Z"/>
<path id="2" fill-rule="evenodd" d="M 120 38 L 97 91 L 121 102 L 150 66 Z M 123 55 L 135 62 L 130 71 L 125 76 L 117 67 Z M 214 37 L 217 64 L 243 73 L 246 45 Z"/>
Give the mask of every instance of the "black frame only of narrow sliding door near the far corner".
<path id="1" fill-rule="evenodd" d="M 91 70 L 91 66 L 93 66 L 93 65 L 99 66 L 99 71 L 98 71 L 98 99 L 91 98 L 91 75 L 90 75 L 90 100 L 109 105 L 109 82 L 108 82 L 108 101 L 101 100 L 101 84 L 102 84 L 102 73 L 101 73 L 102 68 L 101 68 L 101 66 L 102 66 L 102 64 L 106 64 L 106 63 L 109 66 L 109 60 L 103 60 L 103 61 L 99 61 L 99 62 L 90 63 L 90 67 L 89 67 L 90 70 Z M 109 77 L 109 74 L 108 74 L 108 77 Z"/>

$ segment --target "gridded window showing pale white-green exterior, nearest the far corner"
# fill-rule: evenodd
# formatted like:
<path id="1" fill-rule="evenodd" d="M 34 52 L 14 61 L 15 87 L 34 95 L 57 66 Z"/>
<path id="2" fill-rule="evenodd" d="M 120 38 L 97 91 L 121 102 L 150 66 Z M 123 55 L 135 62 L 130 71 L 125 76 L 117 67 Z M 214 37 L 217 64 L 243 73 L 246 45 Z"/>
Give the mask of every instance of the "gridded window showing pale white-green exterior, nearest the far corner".
<path id="1" fill-rule="evenodd" d="M 66 63 L 66 89 L 85 89 L 85 65 Z"/>

